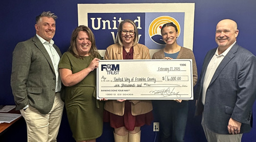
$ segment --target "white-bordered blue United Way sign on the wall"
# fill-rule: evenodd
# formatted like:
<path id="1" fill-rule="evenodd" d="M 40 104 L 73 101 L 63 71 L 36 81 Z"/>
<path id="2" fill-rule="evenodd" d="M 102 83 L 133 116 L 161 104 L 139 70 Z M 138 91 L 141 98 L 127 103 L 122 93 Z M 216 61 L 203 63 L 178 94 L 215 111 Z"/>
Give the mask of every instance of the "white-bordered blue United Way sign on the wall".
<path id="1" fill-rule="evenodd" d="M 178 27 L 179 45 L 193 49 L 194 3 L 168 4 L 78 4 L 78 24 L 87 25 L 95 34 L 99 50 L 105 50 L 117 40 L 119 23 L 133 20 L 139 43 L 150 50 L 165 46 L 161 26 L 173 22 Z"/>

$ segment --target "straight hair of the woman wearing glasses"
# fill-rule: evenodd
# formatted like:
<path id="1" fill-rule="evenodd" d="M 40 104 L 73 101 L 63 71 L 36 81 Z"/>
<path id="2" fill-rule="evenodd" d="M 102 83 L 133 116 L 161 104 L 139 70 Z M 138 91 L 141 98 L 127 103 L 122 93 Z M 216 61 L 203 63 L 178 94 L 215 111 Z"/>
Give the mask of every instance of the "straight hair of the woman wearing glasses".
<path id="1" fill-rule="evenodd" d="M 136 24 L 132 21 L 132 20 L 129 20 L 129 19 L 126 19 L 124 21 L 122 21 L 119 26 L 118 26 L 118 40 L 117 40 L 117 43 L 119 43 L 121 46 L 124 46 L 123 45 L 123 41 L 122 41 L 122 28 L 123 28 L 123 24 L 124 23 L 130 23 L 134 26 L 134 39 L 133 39 L 133 45 L 136 45 L 138 43 L 138 30 L 137 30 L 137 26 Z"/>

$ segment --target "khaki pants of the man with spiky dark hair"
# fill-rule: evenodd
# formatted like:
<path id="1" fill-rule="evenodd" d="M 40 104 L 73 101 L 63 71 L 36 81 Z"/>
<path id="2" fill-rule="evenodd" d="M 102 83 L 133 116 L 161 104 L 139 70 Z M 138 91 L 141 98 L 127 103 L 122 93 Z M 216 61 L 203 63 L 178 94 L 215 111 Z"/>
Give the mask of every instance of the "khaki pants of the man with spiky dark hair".
<path id="1" fill-rule="evenodd" d="M 27 123 L 28 141 L 52 142 L 57 141 L 64 102 L 60 93 L 56 93 L 53 108 L 44 115 L 36 108 L 29 106 L 26 110 L 20 109 L 21 115 Z"/>

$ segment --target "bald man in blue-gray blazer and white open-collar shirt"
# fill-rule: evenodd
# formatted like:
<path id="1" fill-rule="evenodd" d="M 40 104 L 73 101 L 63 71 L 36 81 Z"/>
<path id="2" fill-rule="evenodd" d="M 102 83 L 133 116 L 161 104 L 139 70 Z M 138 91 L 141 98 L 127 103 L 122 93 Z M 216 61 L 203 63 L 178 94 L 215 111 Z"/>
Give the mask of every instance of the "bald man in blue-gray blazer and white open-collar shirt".
<path id="1" fill-rule="evenodd" d="M 196 90 L 196 115 L 208 141 L 241 141 L 252 127 L 256 98 L 256 57 L 236 43 L 237 23 L 221 20 L 218 44 L 205 56 Z"/>

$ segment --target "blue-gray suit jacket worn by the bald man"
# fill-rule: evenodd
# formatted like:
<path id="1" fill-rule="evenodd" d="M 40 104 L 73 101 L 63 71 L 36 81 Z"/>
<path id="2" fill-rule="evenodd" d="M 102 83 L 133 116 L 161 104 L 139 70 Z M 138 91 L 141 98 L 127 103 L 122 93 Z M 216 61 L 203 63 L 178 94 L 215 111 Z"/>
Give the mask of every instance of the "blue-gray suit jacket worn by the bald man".
<path id="1" fill-rule="evenodd" d="M 252 106 L 256 98 L 256 57 L 236 43 L 215 71 L 203 105 L 203 78 L 216 49 L 208 51 L 204 59 L 196 90 L 198 101 L 195 115 L 203 111 L 206 127 L 219 134 L 228 134 L 230 118 L 242 123 L 241 133 L 249 132 L 252 127 Z"/>

